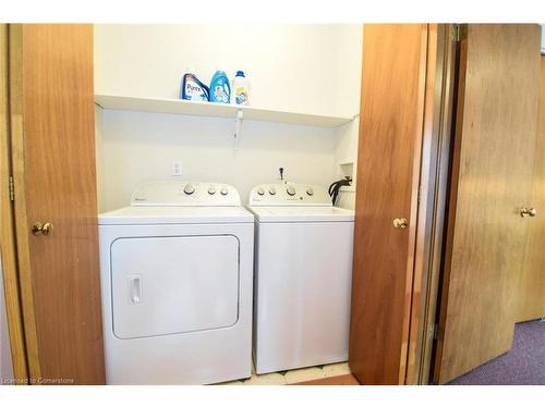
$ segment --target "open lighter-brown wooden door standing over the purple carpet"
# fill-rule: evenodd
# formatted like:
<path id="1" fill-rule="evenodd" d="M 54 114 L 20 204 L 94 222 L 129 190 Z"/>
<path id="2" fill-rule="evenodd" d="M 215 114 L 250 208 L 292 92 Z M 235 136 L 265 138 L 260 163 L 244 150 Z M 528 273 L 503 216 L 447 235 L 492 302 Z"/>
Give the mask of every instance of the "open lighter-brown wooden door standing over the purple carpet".
<path id="1" fill-rule="evenodd" d="M 540 83 L 538 25 L 469 25 L 434 379 L 508 351 L 530 218 Z"/>

